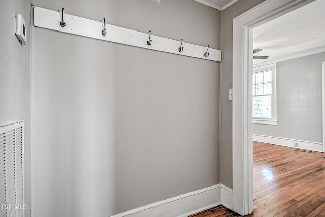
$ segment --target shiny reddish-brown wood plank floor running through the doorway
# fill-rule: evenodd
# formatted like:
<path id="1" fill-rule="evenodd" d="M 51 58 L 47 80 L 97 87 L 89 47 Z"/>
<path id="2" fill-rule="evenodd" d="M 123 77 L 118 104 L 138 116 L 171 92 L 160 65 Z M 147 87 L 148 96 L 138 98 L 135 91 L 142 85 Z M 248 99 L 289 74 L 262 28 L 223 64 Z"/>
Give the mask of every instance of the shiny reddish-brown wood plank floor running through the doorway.
<path id="1" fill-rule="evenodd" d="M 325 154 L 253 143 L 254 212 L 248 216 L 325 216 Z M 195 217 L 239 216 L 220 206 Z"/>

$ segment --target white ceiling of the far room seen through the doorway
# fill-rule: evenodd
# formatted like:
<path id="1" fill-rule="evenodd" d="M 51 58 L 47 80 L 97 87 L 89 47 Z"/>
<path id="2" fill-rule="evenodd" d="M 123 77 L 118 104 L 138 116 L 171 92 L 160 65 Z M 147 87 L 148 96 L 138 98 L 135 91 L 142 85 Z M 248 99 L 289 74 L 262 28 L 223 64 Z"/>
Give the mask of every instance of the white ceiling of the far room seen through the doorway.
<path id="1" fill-rule="evenodd" d="M 253 49 L 268 59 L 253 60 L 262 66 L 325 51 L 324 0 L 316 0 L 254 28 Z"/>

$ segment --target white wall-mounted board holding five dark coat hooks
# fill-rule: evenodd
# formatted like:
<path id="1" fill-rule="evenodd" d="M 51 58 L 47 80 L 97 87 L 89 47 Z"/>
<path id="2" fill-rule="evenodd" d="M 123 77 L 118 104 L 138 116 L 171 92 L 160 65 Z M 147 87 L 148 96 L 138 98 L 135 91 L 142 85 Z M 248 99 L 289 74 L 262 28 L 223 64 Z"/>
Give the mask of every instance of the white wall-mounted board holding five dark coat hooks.
<path id="1" fill-rule="evenodd" d="M 161 52 L 190 56 L 211 61 L 221 61 L 221 51 L 207 46 L 200 46 L 181 41 L 155 36 L 150 33 L 110 25 L 78 16 L 45 8 L 34 7 L 34 26 L 52 29 L 93 39 L 100 39 L 119 44 L 126 44 Z M 105 23 L 105 27 L 104 27 Z M 105 30 L 104 30 L 105 28 Z M 149 41 L 149 42 L 148 42 Z M 150 45 L 148 45 L 150 44 Z M 179 49 L 180 48 L 180 49 Z M 182 48 L 182 49 L 181 49 Z"/>

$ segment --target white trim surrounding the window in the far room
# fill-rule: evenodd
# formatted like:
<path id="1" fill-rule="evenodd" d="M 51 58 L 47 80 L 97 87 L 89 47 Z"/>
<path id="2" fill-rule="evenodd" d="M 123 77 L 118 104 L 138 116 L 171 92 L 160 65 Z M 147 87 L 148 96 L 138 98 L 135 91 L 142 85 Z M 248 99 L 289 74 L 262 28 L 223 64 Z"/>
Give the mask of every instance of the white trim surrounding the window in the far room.
<path id="1" fill-rule="evenodd" d="M 253 118 L 253 123 L 260 125 L 277 125 L 277 107 L 276 107 L 276 64 L 268 64 L 253 68 L 253 74 L 264 71 L 272 71 L 272 119 Z"/>

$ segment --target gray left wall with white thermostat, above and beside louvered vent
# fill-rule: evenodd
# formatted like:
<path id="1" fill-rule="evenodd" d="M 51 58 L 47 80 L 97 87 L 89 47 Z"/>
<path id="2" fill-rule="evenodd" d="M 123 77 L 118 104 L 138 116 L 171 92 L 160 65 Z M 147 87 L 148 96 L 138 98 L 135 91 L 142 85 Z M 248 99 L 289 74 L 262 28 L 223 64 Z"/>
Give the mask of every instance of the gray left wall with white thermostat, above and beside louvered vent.
<path id="1" fill-rule="evenodd" d="M 30 213 L 30 2 L 0 2 L 0 123 L 25 120 L 25 210 Z M 27 45 L 15 35 L 15 15 L 22 14 Z"/>

